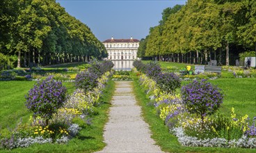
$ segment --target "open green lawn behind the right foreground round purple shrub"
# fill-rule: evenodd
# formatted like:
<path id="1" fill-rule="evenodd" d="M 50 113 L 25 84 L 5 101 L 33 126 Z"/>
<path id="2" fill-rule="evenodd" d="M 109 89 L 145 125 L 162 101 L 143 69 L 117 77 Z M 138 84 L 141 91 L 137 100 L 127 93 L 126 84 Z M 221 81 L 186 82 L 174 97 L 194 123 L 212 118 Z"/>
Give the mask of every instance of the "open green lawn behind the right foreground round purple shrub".
<path id="1" fill-rule="evenodd" d="M 182 86 L 192 81 L 182 81 Z M 256 116 L 256 78 L 216 79 L 209 82 L 221 88 L 224 101 L 220 112 L 230 116 L 231 108 L 238 116 L 249 115 L 250 119 Z"/>

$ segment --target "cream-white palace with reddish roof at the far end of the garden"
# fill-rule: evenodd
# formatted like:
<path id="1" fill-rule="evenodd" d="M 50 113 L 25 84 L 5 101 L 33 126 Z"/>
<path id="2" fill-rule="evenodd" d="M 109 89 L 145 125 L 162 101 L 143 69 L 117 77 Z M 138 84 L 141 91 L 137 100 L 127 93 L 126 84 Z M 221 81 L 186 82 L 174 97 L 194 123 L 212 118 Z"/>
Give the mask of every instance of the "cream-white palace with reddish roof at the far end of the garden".
<path id="1" fill-rule="evenodd" d="M 133 39 L 114 39 L 102 42 L 106 47 L 109 56 L 105 60 L 136 60 L 139 40 Z"/>

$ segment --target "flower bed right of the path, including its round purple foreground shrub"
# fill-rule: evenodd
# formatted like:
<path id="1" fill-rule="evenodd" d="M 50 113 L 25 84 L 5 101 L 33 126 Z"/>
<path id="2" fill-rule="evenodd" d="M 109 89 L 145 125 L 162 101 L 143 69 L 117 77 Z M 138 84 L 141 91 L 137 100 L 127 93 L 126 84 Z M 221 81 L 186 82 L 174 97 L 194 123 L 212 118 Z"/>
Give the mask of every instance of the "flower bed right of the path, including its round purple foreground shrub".
<path id="1" fill-rule="evenodd" d="M 248 115 L 237 118 L 234 108 L 230 118 L 215 114 L 223 99 L 216 86 L 205 80 L 194 81 L 182 88 L 181 96 L 161 88 L 157 77 L 147 74 L 147 65 L 136 64 L 145 72 L 139 81 L 150 97 L 149 104 L 154 105 L 159 118 L 177 136 L 179 143 L 193 147 L 256 147 L 256 118 L 250 124 Z"/>

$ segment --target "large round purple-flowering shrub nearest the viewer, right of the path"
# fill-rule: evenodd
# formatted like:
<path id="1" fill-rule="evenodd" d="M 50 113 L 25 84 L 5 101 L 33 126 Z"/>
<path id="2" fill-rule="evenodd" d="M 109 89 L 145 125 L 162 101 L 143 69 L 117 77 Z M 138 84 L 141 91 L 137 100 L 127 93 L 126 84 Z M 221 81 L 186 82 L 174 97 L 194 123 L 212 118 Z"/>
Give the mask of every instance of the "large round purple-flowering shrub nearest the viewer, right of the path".
<path id="1" fill-rule="evenodd" d="M 200 115 L 202 120 L 201 127 L 204 127 L 204 118 L 206 115 L 215 113 L 223 103 L 223 93 L 221 89 L 207 83 L 193 81 L 182 87 L 182 100 L 189 113 Z"/>

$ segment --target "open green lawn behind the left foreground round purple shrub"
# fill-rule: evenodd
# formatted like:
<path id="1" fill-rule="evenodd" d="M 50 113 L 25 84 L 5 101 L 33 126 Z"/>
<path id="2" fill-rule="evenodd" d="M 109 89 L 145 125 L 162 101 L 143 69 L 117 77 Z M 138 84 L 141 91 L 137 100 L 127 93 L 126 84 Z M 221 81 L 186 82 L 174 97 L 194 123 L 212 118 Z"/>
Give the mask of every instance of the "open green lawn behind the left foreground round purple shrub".
<path id="1" fill-rule="evenodd" d="M 0 81 L 0 134 L 8 135 L 17 123 L 28 122 L 32 115 L 24 105 L 25 95 L 29 92 L 35 81 Z M 67 93 L 74 91 L 74 83 L 63 83 Z"/>

